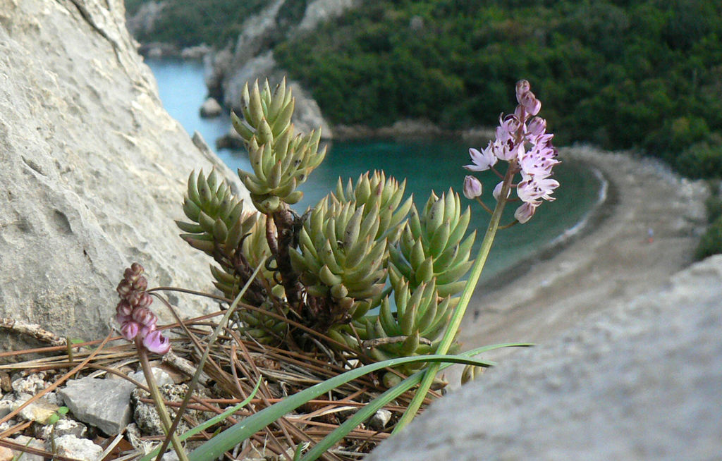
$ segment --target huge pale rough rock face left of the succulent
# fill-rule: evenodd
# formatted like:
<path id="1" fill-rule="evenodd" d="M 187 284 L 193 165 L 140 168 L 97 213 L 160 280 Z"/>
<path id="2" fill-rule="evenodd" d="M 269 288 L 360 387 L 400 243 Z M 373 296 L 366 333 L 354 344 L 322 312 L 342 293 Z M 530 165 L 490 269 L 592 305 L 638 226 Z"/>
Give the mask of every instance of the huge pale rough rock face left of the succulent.
<path id="1" fill-rule="evenodd" d="M 134 260 L 151 284 L 212 290 L 173 219 L 191 170 L 233 175 L 162 109 L 123 13 L 0 0 L 0 316 L 61 335 L 108 332 Z M 183 315 L 216 309 L 170 298 Z"/>

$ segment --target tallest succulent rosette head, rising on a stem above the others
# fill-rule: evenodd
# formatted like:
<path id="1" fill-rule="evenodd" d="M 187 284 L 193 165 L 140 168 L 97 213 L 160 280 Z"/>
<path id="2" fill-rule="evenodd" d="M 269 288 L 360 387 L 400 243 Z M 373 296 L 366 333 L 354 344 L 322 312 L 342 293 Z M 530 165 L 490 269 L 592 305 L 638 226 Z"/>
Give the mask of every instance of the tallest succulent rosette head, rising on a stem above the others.
<path id="1" fill-rule="evenodd" d="M 248 150 L 253 172 L 238 170 L 240 180 L 251 193 L 253 205 L 265 214 L 277 211 L 281 203 L 300 201 L 296 190 L 309 173 L 326 157 L 326 147 L 318 149 L 321 129 L 306 135 L 295 134 L 291 123 L 295 100 L 285 79 L 271 92 L 266 80 L 263 90 L 258 81 L 251 89 L 243 87 L 243 120 L 231 113 L 235 131 Z"/>

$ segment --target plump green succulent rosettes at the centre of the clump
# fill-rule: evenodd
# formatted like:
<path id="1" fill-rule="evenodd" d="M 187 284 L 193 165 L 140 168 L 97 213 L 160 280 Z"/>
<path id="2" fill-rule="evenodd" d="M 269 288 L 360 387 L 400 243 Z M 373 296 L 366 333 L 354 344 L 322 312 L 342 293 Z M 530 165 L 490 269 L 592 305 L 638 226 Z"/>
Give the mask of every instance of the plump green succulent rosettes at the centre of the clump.
<path id="1" fill-rule="evenodd" d="M 290 253 L 321 329 L 358 318 L 380 302 L 386 284 L 387 246 L 412 201 L 401 204 L 405 183 L 383 173 L 362 175 L 356 186 L 339 185 L 313 208 Z"/>

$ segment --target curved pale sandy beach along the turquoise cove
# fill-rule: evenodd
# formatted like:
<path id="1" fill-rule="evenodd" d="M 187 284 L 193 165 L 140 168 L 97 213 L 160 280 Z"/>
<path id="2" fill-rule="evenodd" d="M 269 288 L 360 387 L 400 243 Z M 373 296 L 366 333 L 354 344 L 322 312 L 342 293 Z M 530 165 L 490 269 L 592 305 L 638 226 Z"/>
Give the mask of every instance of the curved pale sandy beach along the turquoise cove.
<path id="1" fill-rule="evenodd" d="M 692 263 L 705 226 L 703 183 L 655 159 L 586 146 L 562 149 L 560 158 L 601 172 L 606 198 L 578 235 L 479 286 L 461 326 L 464 349 L 541 343 L 593 312 L 655 291 Z M 547 206 L 554 203 L 538 212 Z"/>

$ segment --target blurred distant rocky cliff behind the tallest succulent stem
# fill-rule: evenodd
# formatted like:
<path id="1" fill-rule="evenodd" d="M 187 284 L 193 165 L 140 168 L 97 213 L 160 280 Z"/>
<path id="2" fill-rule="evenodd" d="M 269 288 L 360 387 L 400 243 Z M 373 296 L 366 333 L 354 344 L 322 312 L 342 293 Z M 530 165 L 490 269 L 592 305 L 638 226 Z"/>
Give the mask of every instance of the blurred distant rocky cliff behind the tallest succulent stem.
<path id="1" fill-rule="evenodd" d="M 343 14 L 359 0 L 315 0 L 305 6 L 303 15 L 288 17 L 292 0 L 273 0 L 264 10 L 248 18 L 232 51 L 225 50 L 206 55 L 206 85 L 211 95 L 222 97 L 227 107 L 240 109 L 240 95 L 245 82 L 269 79 L 277 84 L 286 74 L 280 69 L 271 51 L 274 43 L 287 36 L 309 32 L 318 25 Z M 298 130 L 308 132 L 321 127 L 324 138 L 333 137 L 329 123 L 323 118 L 316 100 L 301 89 L 300 84 L 289 82 L 296 98 L 293 122 Z"/>

